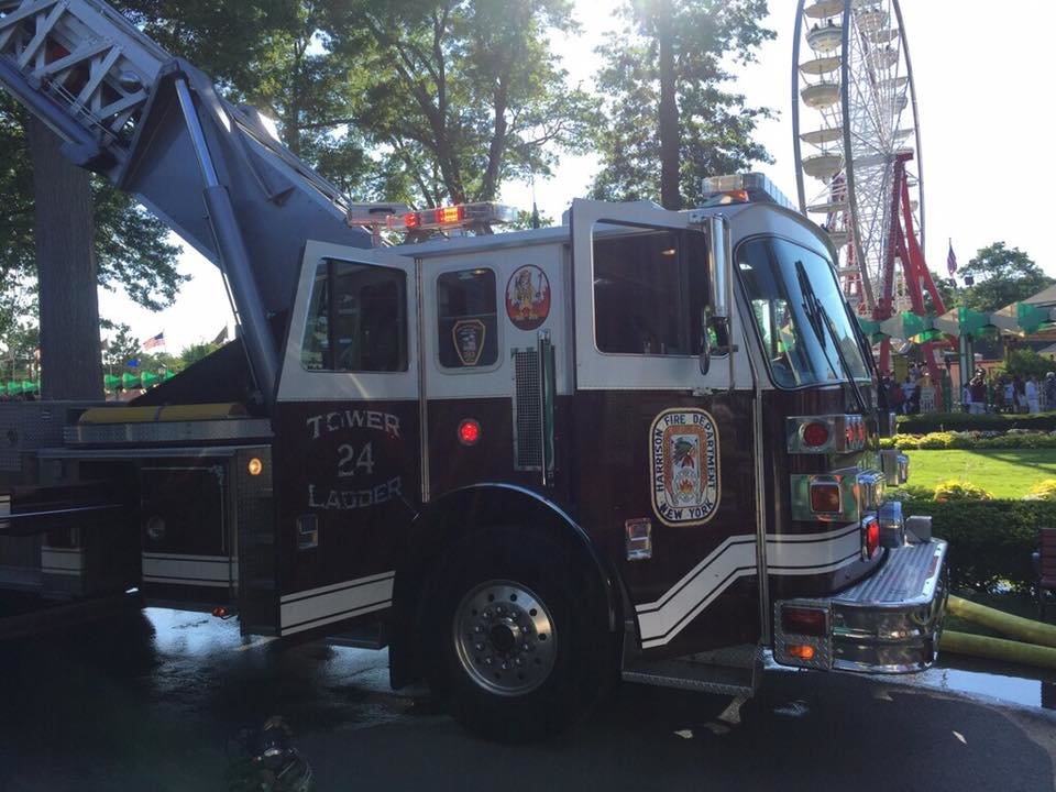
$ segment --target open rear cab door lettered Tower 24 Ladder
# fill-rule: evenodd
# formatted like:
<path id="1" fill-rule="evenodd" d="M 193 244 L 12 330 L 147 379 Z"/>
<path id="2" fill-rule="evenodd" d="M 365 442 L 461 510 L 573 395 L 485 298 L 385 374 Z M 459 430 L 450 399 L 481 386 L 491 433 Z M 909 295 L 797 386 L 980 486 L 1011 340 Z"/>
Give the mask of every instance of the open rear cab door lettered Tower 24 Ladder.
<path id="1" fill-rule="evenodd" d="M 276 399 L 283 635 L 392 605 L 420 492 L 418 358 L 414 262 L 309 242 Z"/>

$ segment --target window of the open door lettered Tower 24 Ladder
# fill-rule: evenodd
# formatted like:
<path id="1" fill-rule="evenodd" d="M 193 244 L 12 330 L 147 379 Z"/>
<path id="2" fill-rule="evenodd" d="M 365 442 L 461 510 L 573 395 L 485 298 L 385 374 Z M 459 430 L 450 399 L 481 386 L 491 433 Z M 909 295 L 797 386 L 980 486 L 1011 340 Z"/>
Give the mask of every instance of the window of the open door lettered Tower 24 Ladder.
<path id="1" fill-rule="evenodd" d="M 370 264 L 319 264 L 300 361 L 312 371 L 407 371 L 406 275 Z"/>

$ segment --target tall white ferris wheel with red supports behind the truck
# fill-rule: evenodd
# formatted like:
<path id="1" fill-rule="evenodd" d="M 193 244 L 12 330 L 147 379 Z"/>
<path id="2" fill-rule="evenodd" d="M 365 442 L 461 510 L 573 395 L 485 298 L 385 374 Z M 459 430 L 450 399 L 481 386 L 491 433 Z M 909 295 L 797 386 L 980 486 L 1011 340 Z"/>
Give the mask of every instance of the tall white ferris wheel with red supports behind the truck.
<path id="1" fill-rule="evenodd" d="M 848 302 L 879 320 L 923 312 L 921 287 L 934 286 L 921 253 L 920 124 L 898 0 L 799 0 L 792 124 L 800 210 L 832 238 Z"/>

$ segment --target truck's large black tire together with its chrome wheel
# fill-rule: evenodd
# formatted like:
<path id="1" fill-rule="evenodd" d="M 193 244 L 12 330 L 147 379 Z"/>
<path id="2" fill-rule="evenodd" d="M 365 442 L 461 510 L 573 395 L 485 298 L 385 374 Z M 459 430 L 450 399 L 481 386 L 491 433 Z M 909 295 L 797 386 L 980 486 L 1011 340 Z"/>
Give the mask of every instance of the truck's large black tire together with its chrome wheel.
<path id="1" fill-rule="evenodd" d="M 473 535 L 426 587 L 419 636 L 435 695 L 470 732 L 528 741 L 581 721 L 616 672 L 593 566 L 522 531 Z"/>

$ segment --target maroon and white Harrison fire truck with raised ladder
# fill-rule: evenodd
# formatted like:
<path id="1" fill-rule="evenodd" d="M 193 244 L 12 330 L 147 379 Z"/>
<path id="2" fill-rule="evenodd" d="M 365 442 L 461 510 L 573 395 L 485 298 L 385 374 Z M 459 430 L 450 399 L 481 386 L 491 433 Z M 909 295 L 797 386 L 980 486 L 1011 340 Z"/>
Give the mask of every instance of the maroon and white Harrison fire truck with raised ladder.
<path id="1" fill-rule="evenodd" d="M 933 662 L 946 544 L 886 497 L 869 344 L 765 178 L 508 233 L 353 205 L 99 0 L 0 0 L 0 84 L 240 327 L 131 405 L 4 406 L 4 586 L 388 647 L 394 686 L 510 738 L 620 678 L 747 695 L 766 651 Z"/>

